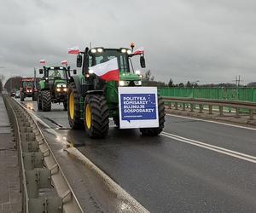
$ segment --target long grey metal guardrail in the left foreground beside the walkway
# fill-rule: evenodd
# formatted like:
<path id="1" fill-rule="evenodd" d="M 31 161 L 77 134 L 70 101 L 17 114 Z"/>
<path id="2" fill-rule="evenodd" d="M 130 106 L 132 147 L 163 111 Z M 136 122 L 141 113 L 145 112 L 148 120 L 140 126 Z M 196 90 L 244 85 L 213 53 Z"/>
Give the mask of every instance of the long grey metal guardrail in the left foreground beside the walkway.
<path id="1" fill-rule="evenodd" d="M 18 151 L 22 212 L 84 212 L 38 124 L 9 95 L 3 101 Z"/>

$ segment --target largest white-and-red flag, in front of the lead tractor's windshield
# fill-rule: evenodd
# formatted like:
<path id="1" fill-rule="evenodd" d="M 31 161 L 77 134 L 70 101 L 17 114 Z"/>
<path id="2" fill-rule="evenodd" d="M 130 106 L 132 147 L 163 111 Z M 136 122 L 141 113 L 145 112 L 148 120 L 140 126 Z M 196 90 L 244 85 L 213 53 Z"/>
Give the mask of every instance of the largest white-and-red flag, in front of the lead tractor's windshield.
<path id="1" fill-rule="evenodd" d="M 95 73 L 105 81 L 119 81 L 119 65 L 117 58 L 89 67 L 89 73 Z"/>

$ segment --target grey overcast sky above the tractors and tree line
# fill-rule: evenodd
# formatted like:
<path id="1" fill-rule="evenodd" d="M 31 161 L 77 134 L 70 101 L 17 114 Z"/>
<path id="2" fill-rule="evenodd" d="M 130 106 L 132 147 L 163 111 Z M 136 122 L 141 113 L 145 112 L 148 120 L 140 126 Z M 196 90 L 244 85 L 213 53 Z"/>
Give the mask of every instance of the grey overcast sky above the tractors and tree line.
<path id="1" fill-rule="evenodd" d="M 147 69 L 175 83 L 256 81 L 256 1 L 1 0 L 0 73 L 60 65 L 67 48 L 143 46 Z M 145 72 L 146 70 L 143 70 Z"/>

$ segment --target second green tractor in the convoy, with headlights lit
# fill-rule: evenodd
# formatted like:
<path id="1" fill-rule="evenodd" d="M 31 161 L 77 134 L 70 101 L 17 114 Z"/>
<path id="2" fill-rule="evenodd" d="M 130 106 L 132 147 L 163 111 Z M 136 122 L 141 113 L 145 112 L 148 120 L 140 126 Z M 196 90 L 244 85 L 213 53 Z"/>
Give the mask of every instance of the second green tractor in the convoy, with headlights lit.
<path id="1" fill-rule="evenodd" d="M 44 66 L 39 69 L 44 77 L 38 83 L 38 110 L 48 112 L 51 110 L 51 103 L 63 103 L 64 110 L 67 110 L 67 86 L 70 75 L 70 66 Z M 76 74 L 76 70 L 73 70 Z"/>

